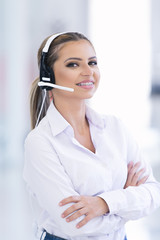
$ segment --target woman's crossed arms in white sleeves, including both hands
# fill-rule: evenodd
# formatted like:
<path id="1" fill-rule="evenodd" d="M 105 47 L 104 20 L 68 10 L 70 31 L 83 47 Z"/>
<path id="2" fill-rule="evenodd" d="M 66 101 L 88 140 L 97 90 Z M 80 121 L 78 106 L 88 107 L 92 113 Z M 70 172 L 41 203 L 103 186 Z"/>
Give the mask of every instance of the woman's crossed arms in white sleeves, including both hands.
<path id="1" fill-rule="evenodd" d="M 25 143 L 23 176 L 38 205 L 54 218 L 67 236 L 113 234 L 126 221 L 143 217 L 159 206 L 160 184 L 155 181 L 150 168 L 141 161 L 141 167 L 145 166 L 146 171 L 138 170 L 140 163 L 131 162 L 141 160 L 138 154 L 131 154 L 127 159 L 130 164 L 124 189 L 95 197 L 80 196 L 52 145 L 33 135 Z M 143 171 L 149 174 L 147 181 L 142 177 Z M 51 191 L 53 187 L 54 191 Z"/>

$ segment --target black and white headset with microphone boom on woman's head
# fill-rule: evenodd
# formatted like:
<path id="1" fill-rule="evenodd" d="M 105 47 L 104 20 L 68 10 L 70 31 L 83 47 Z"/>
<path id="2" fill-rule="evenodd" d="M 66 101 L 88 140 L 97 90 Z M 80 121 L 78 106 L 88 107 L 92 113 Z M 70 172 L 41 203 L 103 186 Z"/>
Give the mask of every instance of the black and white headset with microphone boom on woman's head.
<path id="1" fill-rule="evenodd" d="M 48 55 L 48 50 L 52 41 L 54 41 L 54 39 L 57 38 L 58 36 L 65 33 L 66 32 L 61 32 L 49 37 L 44 48 L 42 49 L 41 63 L 40 63 L 40 81 L 38 82 L 38 86 L 41 89 L 46 89 L 48 91 L 53 88 L 58 88 L 58 89 L 69 91 L 69 92 L 74 91 L 73 88 L 64 87 L 64 86 L 55 84 L 54 72 L 49 66 L 47 66 L 47 55 Z"/>

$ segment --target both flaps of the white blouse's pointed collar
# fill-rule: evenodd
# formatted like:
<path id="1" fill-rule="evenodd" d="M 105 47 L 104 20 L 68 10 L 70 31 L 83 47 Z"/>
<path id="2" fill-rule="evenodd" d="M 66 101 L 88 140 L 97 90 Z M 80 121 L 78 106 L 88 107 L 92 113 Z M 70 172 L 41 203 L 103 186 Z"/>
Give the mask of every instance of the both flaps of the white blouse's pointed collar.
<path id="1" fill-rule="evenodd" d="M 52 129 L 52 133 L 54 136 L 63 132 L 71 125 L 64 119 L 64 117 L 59 113 L 56 109 L 53 102 L 51 102 L 48 110 L 47 110 L 47 119 L 49 121 L 50 127 Z M 91 122 L 94 126 L 103 129 L 105 128 L 105 119 L 103 115 L 100 115 L 96 111 L 94 111 L 91 107 L 86 105 L 86 117 L 89 122 Z"/>

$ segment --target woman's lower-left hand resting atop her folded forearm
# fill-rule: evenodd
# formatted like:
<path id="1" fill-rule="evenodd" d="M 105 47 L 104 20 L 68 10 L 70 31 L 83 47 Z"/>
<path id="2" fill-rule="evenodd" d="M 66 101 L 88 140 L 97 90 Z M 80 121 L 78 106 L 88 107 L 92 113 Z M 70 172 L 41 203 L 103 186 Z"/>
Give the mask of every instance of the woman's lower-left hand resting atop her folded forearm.
<path id="1" fill-rule="evenodd" d="M 84 226 L 92 218 L 109 212 L 107 203 L 97 196 L 71 196 L 63 199 L 59 205 L 64 206 L 68 203 L 73 203 L 73 205 L 62 213 L 62 217 L 66 218 L 67 222 L 71 222 L 80 216 L 85 216 L 84 219 L 77 224 L 77 228 Z"/>

